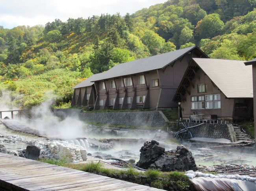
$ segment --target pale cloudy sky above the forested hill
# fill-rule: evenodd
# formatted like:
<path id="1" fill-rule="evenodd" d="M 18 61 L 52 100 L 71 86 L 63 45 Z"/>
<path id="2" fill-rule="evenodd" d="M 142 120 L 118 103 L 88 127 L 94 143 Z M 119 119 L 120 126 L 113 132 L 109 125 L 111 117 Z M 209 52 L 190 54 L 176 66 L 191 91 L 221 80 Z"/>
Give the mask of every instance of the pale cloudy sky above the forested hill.
<path id="1" fill-rule="evenodd" d="M 56 18 L 87 18 L 101 13 L 122 16 L 167 0 L 0 0 L 0 25 L 11 29 L 19 25 L 45 25 Z"/>

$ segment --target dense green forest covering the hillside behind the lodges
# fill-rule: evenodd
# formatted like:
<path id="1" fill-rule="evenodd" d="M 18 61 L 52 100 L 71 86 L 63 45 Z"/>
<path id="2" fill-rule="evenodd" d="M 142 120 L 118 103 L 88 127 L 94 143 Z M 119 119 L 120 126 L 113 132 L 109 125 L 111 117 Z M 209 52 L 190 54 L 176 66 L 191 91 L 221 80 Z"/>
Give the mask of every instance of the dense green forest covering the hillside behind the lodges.
<path id="1" fill-rule="evenodd" d="M 116 64 L 197 45 L 211 58 L 256 57 L 256 0 L 168 0 L 134 14 L 0 26 L 0 89 L 21 108 L 72 89 Z"/>

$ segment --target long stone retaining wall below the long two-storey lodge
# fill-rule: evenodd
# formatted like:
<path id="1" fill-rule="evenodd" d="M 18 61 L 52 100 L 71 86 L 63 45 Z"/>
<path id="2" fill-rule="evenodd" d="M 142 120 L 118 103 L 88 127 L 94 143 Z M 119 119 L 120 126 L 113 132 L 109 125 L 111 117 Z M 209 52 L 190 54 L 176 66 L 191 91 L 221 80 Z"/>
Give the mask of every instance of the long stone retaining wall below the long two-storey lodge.
<path id="1" fill-rule="evenodd" d="M 78 116 L 80 120 L 98 122 L 108 125 L 125 126 L 165 126 L 168 121 L 161 111 L 130 111 L 130 112 L 85 112 L 79 109 L 56 109 L 54 115 L 59 117 Z"/>

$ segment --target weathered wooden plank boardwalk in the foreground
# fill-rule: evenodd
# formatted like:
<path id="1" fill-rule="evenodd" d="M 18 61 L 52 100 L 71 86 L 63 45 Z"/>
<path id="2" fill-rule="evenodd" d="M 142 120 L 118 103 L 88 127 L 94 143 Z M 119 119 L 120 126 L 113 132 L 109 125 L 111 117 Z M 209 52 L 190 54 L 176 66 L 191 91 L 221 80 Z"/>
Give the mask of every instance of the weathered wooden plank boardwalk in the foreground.
<path id="1" fill-rule="evenodd" d="M 157 191 L 160 189 L 0 153 L 0 190 Z"/>

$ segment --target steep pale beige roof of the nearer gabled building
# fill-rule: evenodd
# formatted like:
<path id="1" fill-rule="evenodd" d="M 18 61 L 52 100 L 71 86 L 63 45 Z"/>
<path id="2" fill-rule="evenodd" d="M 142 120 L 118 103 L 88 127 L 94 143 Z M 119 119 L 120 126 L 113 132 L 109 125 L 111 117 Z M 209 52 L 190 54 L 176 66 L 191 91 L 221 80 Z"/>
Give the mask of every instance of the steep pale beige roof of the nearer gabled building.
<path id="1" fill-rule="evenodd" d="M 240 60 L 193 58 L 179 85 L 174 101 L 180 101 L 195 72 L 202 69 L 227 98 L 252 98 L 252 68 Z M 194 72 L 192 72 L 194 70 Z M 189 78 L 189 79 L 188 79 Z"/>

